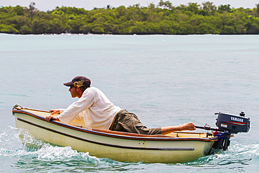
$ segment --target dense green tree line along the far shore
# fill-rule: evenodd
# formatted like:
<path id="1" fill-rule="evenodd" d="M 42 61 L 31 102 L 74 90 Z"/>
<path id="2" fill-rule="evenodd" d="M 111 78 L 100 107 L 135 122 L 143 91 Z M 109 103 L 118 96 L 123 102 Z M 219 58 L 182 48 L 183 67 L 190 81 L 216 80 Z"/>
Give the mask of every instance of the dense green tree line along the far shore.
<path id="1" fill-rule="evenodd" d="M 8 34 L 259 34 L 259 4 L 255 8 L 202 5 L 119 6 L 113 8 L 56 7 L 38 11 L 29 7 L 0 7 L 0 33 Z"/>

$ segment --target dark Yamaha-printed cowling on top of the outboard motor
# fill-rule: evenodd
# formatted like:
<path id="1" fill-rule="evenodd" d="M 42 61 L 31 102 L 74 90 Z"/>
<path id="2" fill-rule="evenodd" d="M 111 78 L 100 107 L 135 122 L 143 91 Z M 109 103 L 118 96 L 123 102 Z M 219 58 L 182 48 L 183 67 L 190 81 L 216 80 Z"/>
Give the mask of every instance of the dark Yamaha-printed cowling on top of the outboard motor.
<path id="1" fill-rule="evenodd" d="M 231 134 L 237 134 L 238 132 L 248 132 L 250 129 L 250 118 L 244 117 L 244 112 L 239 113 L 239 116 L 221 112 L 215 114 L 218 115 L 216 126 L 220 130 L 228 130 Z"/>

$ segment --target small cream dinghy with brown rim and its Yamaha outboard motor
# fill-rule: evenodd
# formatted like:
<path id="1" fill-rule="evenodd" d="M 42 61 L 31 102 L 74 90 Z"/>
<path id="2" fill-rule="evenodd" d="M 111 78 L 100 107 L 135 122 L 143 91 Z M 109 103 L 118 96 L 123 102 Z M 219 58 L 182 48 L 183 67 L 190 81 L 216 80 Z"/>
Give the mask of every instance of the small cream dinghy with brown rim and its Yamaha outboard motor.
<path id="1" fill-rule="evenodd" d="M 83 120 L 73 120 L 69 124 L 57 120 L 47 123 L 45 116 L 50 115 L 49 111 L 27 109 L 18 104 L 13 107 L 13 115 L 17 128 L 28 129 L 31 134 L 38 135 L 50 144 L 71 146 L 97 158 L 111 158 L 122 162 L 188 162 L 202 155 L 226 150 L 233 133 L 248 132 L 250 127 L 249 118 L 238 116 L 235 120 L 230 120 L 231 122 L 221 120 L 223 123 L 218 129 L 200 127 L 217 131 L 214 133 L 171 132 L 165 135 L 146 135 L 92 129 L 85 127 Z M 230 128 L 234 127 L 235 130 L 228 130 L 229 123 Z"/>

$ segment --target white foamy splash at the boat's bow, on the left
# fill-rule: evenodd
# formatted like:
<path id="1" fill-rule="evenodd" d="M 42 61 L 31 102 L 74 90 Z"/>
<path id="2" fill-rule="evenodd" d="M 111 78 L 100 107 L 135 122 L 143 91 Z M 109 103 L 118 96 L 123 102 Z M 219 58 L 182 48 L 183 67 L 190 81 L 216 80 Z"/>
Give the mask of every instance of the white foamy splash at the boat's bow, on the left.
<path id="1" fill-rule="evenodd" d="M 49 144 L 29 134 L 27 130 L 10 126 L 0 134 L 0 157 L 15 158 L 17 160 L 15 167 L 17 168 L 25 168 L 32 163 L 50 167 L 52 165 L 78 167 L 78 165 L 116 164 L 115 161 L 108 158 L 96 158 L 88 153 L 75 151 L 69 146 L 63 147 Z"/>

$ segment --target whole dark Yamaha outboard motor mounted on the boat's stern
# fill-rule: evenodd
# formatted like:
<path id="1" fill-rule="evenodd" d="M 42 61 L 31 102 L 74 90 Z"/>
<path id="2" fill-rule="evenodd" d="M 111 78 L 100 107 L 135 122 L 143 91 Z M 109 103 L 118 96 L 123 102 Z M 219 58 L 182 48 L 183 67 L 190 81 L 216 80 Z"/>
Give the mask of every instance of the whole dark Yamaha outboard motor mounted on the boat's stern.
<path id="1" fill-rule="evenodd" d="M 225 151 L 230 146 L 231 134 L 237 134 L 239 132 L 248 132 L 250 129 L 250 118 L 246 118 L 245 113 L 239 113 L 239 116 L 231 115 L 228 113 L 215 113 L 218 115 L 216 118 L 216 126 L 219 132 L 218 142 L 214 145 L 216 149 L 222 149 Z"/>

